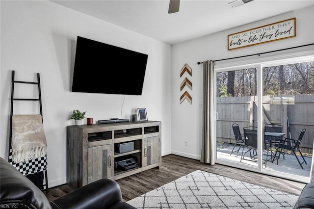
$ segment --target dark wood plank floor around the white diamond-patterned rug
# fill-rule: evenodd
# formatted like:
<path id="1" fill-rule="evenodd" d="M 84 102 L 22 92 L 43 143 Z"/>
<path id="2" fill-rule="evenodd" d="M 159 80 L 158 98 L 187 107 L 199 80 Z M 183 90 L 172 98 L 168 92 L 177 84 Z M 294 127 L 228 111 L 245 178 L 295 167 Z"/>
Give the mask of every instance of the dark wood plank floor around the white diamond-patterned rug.
<path id="1" fill-rule="evenodd" d="M 162 157 L 162 165 L 159 169 L 153 168 L 123 179 L 119 179 L 116 182 L 120 185 L 123 200 L 129 201 L 195 170 L 203 170 L 239 181 L 274 188 L 295 195 L 299 195 L 305 185 L 305 183 L 293 182 L 225 165 L 203 164 L 199 160 L 176 155 Z M 70 192 L 71 190 L 72 189 L 69 186 L 61 185 L 51 188 L 47 197 L 50 201 L 52 201 Z"/>

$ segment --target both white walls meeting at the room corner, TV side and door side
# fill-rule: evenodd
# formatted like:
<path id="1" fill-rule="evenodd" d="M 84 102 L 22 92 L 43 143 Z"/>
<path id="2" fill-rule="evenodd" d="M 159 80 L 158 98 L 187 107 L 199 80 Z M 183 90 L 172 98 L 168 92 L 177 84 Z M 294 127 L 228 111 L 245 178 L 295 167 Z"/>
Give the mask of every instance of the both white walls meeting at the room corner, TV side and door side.
<path id="1" fill-rule="evenodd" d="M 162 121 L 162 155 L 173 153 L 199 159 L 203 69 L 197 62 L 314 43 L 314 7 L 173 46 L 49 1 L 0 1 L 0 9 L 0 156 L 6 158 L 8 152 L 11 71 L 16 71 L 17 79 L 30 81 L 40 73 L 50 186 L 66 183 L 66 127 L 74 125 L 74 121 L 68 120 L 73 109 L 87 110 L 87 117 L 96 122 L 112 117 L 129 118 L 137 107 L 146 107 L 149 120 Z M 227 50 L 228 34 L 292 17 L 296 17 L 296 37 Z M 77 36 L 149 54 L 143 94 L 126 96 L 122 116 L 122 95 L 70 91 Z M 185 63 L 192 68 L 193 90 L 189 91 L 192 104 L 187 101 L 180 104 L 180 70 Z M 31 95 L 24 88 L 16 93 Z M 24 102 L 15 105 L 16 114 L 37 109 Z"/>

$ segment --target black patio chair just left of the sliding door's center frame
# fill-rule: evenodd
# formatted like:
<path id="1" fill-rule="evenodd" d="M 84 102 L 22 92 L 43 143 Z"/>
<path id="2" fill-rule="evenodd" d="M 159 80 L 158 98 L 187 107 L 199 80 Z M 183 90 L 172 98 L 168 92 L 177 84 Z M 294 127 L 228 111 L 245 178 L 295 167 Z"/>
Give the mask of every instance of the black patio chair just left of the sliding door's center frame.
<path id="1" fill-rule="evenodd" d="M 244 132 L 244 146 L 242 148 L 242 155 L 241 155 L 241 159 L 244 159 L 244 156 L 246 153 L 250 153 L 250 158 L 252 159 L 253 157 L 257 156 L 257 127 L 255 126 L 249 126 L 249 127 L 244 127 L 243 128 L 243 132 Z M 244 147 L 248 148 L 248 151 L 246 151 L 244 153 Z M 251 151 L 253 151 L 253 155 L 251 153 Z M 254 155 L 255 152 L 255 155 Z"/>

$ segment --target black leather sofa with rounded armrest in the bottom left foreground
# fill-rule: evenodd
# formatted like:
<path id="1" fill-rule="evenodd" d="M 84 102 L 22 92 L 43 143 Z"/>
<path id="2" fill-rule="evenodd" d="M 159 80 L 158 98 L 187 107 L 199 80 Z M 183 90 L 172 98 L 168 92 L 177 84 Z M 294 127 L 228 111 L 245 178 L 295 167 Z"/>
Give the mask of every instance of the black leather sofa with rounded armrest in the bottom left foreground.
<path id="1" fill-rule="evenodd" d="M 45 194 L 0 157 L 0 208 L 10 209 L 136 209 L 122 201 L 119 184 L 102 179 L 49 202 Z"/>

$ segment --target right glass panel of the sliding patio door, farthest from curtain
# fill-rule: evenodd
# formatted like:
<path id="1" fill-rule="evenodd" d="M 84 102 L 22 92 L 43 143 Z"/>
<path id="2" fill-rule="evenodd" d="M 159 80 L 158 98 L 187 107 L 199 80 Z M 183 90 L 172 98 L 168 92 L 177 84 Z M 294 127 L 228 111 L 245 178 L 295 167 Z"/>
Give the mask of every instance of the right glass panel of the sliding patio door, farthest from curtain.
<path id="1" fill-rule="evenodd" d="M 314 61 L 263 65 L 262 82 L 262 128 L 272 159 L 265 172 L 307 179 L 314 138 Z"/>

